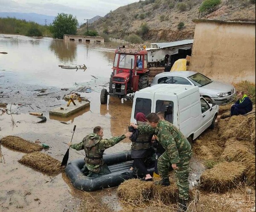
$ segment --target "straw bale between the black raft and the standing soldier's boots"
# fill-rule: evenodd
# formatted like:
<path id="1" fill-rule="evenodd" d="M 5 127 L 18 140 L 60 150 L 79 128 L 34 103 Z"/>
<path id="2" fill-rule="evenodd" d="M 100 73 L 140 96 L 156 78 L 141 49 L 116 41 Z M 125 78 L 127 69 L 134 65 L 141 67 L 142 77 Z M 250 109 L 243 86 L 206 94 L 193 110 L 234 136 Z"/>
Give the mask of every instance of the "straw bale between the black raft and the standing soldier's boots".
<path id="1" fill-rule="evenodd" d="M 133 203 L 141 203 L 152 197 L 154 183 L 142 182 L 139 179 L 125 180 L 116 192 L 123 200 Z"/>

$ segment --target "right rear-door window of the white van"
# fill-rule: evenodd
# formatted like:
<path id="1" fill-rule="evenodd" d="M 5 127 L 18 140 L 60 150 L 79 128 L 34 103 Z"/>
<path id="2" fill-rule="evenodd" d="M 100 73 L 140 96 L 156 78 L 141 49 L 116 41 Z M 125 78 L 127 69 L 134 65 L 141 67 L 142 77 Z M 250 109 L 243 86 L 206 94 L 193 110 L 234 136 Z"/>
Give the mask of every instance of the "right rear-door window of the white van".
<path id="1" fill-rule="evenodd" d="M 163 112 L 164 119 L 173 124 L 173 102 L 157 100 L 156 113 Z"/>

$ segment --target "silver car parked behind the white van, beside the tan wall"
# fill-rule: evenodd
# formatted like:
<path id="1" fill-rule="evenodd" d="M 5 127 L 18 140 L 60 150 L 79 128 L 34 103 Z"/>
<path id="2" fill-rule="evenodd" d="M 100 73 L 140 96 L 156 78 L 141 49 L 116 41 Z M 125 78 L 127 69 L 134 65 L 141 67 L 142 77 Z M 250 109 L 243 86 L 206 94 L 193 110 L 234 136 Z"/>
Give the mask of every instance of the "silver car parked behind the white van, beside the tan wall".
<path id="1" fill-rule="evenodd" d="M 189 84 L 199 87 L 200 95 L 210 104 L 226 105 L 234 99 L 236 89 L 232 84 L 213 81 L 195 71 L 176 71 L 157 74 L 151 86 L 155 84 Z"/>

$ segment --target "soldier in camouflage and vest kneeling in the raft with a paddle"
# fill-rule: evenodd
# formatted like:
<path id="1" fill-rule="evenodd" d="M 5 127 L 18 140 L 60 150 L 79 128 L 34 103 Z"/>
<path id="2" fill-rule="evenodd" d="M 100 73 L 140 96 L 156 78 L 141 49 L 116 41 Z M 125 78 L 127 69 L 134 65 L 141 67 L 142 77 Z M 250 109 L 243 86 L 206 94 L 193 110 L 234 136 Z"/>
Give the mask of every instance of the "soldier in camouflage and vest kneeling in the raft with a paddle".
<path id="1" fill-rule="evenodd" d="M 116 136 L 111 139 L 102 139 L 102 127 L 97 126 L 93 129 L 93 133 L 84 137 L 82 142 L 77 144 L 68 143 L 70 148 L 85 151 L 85 165 L 82 171 L 87 177 L 97 177 L 99 175 L 110 174 L 108 166 L 104 163 L 102 157 L 105 149 L 116 145 L 132 133 L 128 132 L 122 136 Z"/>

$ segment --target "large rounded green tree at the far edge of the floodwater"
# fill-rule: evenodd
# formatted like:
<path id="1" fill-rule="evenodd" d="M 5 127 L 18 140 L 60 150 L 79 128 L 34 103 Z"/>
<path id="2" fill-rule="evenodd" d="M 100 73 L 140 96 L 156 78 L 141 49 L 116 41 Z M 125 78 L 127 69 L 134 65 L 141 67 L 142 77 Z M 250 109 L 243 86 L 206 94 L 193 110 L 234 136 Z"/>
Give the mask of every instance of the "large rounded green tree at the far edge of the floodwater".
<path id="1" fill-rule="evenodd" d="M 58 13 L 49 30 L 53 38 L 63 39 L 63 35 L 76 35 L 78 20 L 71 14 Z"/>

